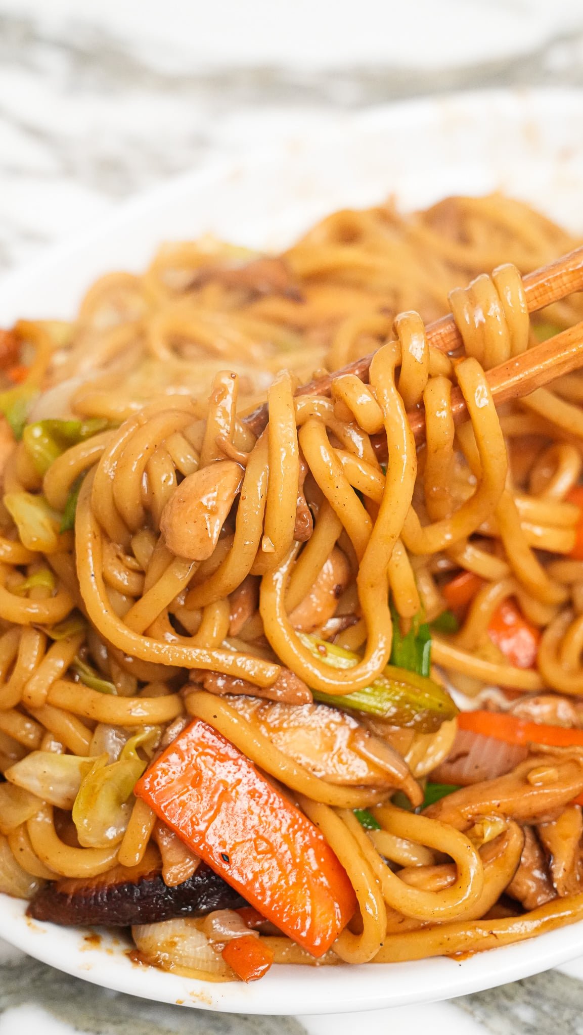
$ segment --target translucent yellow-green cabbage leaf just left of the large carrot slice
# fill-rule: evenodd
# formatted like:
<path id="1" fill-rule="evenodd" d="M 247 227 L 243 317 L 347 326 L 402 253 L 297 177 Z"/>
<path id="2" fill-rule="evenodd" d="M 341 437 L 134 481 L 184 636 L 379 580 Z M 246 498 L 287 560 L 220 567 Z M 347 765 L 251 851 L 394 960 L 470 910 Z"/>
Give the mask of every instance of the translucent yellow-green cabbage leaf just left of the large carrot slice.
<path id="1" fill-rule="evenodd" d="M 148 764 L 138 748 L 149 756 L 158 740 L 158 728 L 146 727 L 129 738 L 117 762 L 110 764 L 108 755 L 92 760 L 72 806 L 83 848 L 110 848 L 121 840 L 132 815 L 134 788 Z"/>

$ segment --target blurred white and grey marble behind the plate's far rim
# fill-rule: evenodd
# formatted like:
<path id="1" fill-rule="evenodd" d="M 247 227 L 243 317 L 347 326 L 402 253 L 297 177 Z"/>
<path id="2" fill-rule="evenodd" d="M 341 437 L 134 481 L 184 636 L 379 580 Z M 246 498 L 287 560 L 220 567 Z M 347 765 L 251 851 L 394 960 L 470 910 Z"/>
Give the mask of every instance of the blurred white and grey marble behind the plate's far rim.
<path id="1" fill-rule="evenodd" d="M 0 273 L 355 110 L 550 84 L 583 85 L 581 0 L 0 0 Z"/>

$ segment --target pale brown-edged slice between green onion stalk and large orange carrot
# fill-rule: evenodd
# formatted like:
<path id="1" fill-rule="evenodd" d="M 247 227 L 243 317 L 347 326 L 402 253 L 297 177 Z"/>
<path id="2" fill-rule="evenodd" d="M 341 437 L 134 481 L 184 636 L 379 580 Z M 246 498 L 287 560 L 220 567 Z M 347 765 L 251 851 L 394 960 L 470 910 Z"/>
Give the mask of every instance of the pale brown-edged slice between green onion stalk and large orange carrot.
<path id="1" fill-rule="evenodd" d="M 399 787 L 411 800 L 418 800 L 419 787 L 405 761 L 352 715 L 327 705 L 228 700 L 275 747 L 315 776 L 345 786 Z"/>

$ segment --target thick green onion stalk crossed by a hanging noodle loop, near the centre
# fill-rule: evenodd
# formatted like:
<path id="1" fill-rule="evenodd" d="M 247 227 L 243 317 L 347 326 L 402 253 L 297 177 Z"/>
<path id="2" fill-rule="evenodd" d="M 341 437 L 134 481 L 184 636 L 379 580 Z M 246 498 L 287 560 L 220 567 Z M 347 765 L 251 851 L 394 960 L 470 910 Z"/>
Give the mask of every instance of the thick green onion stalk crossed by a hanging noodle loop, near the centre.
<path id="1" fill-rule="evenodd" d="M 352 651 L 326 643 L 305 632 L 298 633 L 314 655 L 334 669 L 350 669 L 360 659 Z M 354 709 L 377 715 L 393 726 L 435 733 L 442 722 L 454 718 L 459 709 L 442 686 L 414 672 L 388 664 L 370 686 L 351 693 L 333 696 L 313 690 L 314 700 L 337 708 Z"/>

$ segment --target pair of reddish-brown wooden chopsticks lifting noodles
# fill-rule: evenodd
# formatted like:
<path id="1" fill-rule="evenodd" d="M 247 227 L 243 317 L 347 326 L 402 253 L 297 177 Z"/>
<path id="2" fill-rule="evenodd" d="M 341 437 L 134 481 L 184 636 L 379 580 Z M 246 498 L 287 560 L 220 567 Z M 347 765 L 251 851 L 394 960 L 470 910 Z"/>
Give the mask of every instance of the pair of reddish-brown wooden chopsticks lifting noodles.
<path id="1" fill-rule="evenodd" d="M 583 290 L 583 247 L 576 248 L 556 262 L 543 266 L 533 273 L 528 273 L 523 280 L 526 304 L 529 313 L 545 308 L 553 302 L 558 302 L 576 291 Z M 430 345 L 440 352 L 453 352 L 463 345 L 461 334 L 456 327 L 454 317 L 441 317 L 427 327 L 427 337 Z M 341 371 L 317 378 L 309 384 L 301 385 L 296 395 L 313 393 L 329 395 L 334 378 L 343 374 L 355 374 L 361 381 L 368 381 L 369 367 L 374 353 L 362 356 L 349 363 Z M 511 400 L 529 395 L 536 388 L 542 388 L 555 378 L 571 374 L 583 366 L 583 321 L 569 327 L 567 330 L 555 334 L 554 337 L 528 349 L 520 356 L 508 359 L 505 363 L 493 366 L 487 372 L 487 380 L 494 402 L 497 405 Z M 461 423 L 467 418 L 466 404 L 459 388 L 451 391 L 451 409 L 454 420 Z M 422 442 L 426 434 L 425 412 L 422 408 L 408 414 L 409 423 L 417 443 Z M 251 430 L 259 435 L 267 424 L 267 404 L 254 410 L 243 419 Z"/>

